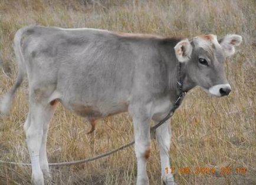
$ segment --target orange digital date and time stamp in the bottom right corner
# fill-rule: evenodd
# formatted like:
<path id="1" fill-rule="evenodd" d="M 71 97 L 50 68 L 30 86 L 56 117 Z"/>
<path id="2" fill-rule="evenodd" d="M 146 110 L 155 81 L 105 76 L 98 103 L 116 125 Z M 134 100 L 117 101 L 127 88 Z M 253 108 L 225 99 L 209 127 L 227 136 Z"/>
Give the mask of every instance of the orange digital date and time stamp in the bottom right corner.
<path id="1" fill-rule="evenodd" d="M 216 169 L 215 167 L 195 167 L 195 169 L 191 169 L 190 167 L 179 167 L 178 169 L 175 169 L 175 167 L 166 167 L 165 173 L 173 174 L 175 171 L 178 171 L 179 174 L 215 174 Z M 219 171 L 219 174 L 222 176 L 231 174 L 231 167 L 221 167 Z M 247 169 L 245 167 L 237 167 L 235 169 L 235 173 L 237 174 L 245 174 L 247 172 Z"/>

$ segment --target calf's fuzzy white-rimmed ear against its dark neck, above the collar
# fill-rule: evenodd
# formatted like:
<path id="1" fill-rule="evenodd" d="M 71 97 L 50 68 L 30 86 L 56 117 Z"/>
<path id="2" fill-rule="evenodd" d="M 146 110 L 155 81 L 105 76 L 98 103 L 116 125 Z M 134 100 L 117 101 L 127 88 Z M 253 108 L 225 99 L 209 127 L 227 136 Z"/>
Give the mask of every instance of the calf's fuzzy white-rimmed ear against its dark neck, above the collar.
<path id="1" fill-rule="evenodd" d="M 189 58 L 191 57 L 192 53 L 192 45 L 190 44 L 187 38 L 183 39 L 182 41 L 179 41 L 178 44 L 175 45 L 174 49 L 178 61 L 189 61 Z"/>

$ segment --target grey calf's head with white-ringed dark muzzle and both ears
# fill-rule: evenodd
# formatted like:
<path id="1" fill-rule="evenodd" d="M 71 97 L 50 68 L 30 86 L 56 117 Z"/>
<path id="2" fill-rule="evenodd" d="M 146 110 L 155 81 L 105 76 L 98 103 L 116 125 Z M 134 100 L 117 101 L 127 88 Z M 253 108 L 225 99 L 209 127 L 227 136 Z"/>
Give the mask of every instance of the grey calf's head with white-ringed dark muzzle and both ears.
<path id="1" fill-rule="evenodd" d="M 224 60 L 235 53 L 241 44 L 239 35 L 226 35 L 219 42 L 216 35 L 183 39 L 175 46 L 175 54 L 185 63 L 185 81 L 188 87 L 199 85 L 212 95 L 228 95 L 231 86 L 225 75 Z"/>

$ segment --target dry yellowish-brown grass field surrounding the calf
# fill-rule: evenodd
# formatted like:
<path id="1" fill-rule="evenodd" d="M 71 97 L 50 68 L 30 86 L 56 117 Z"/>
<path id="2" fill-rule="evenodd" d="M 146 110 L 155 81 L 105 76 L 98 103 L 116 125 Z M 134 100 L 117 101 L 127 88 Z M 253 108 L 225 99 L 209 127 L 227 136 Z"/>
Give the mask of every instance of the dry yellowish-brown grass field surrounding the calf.
<path id="1" fill-rule="evenodd" d="M 1 94 L 8 91 L 17 67 L 12 40 L 18 28 L 29 24 L 58 27 L 91 27 L 114 31 L 192 37 L 214 33 L 241 34 L 244 42 L 227 60 L 232 93 L 227 98 L 208 97 L 195 88 L 173 116 L 172 166 L 231 167 L 231 174 L 179 174 L 178 184 L 255 184 L 255 7 L 251 1 L 53 1 L 1 0 L 0 72 Z M 1 61 L 1 59 L 0 59 Z M 4 72 L 5 71 L 5 72 Z M 15 98 L 11 116 L 0 118 L 0 160 L 29 162 L 23 123 L 28 113 L 27 82 Z M 83 118 L 58 105 L 48 136 L 50 162 L 94 156 L 121 146 L 133 138 L 132 120 L 127 114 L 104 119 L 94 134 Z M 150 184 L 161 184 L 159 151 L 152 142 L 147 171 Z M 247 173 L 237 174 L 235 168 Z M 109 157 L 73 167 L 52 169 L 48 184 L 134 184 L 136 158 L 133 148 Z M 29 184 L 30 167 L 0 164 L 0 184 Z"/>

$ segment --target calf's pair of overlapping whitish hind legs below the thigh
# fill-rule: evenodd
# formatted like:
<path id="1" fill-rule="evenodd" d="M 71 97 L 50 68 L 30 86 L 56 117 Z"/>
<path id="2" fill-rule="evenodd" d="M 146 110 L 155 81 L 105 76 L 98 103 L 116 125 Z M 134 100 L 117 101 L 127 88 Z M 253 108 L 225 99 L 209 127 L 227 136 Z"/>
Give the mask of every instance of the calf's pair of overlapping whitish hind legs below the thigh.
<path id="1" fill-rule="evenodd" d="M 54 107 L 50 104 L 30 101 L 29 114 L 24 129 L 32 166 L 32 181 L 34 184 L 44 184 L 44 173 L 49 174 L 46 156 L 46 140 L 48 122 Z"/>

